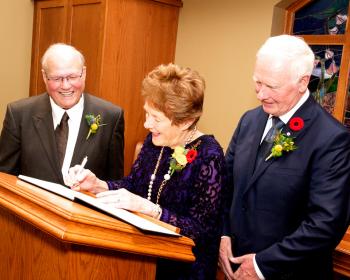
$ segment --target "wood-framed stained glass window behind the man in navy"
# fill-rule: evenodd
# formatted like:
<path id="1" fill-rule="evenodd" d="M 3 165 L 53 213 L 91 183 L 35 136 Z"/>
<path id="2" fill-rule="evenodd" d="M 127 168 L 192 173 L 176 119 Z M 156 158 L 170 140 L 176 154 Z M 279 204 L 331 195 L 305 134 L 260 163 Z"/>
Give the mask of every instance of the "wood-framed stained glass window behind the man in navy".
<path id="1" fill-rule="evenodd" d="M 325 110 L 350 128 L 349 2 L 294 1 L 286 7 L 284 32 L 302 37 L 311 46 L 316 61 L 310 92 Z"/>

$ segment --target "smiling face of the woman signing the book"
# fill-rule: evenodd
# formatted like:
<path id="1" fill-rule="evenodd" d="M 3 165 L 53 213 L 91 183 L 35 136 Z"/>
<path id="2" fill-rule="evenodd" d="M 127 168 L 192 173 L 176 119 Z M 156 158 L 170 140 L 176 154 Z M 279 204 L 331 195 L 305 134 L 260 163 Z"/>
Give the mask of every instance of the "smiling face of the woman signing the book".
<path id="1" fill-rule="evenodd" d="M 152 133 L 152 142 L 154 145 L 171 148 L 184 145 L 191 123 L 174 125 L 164 113 L 150 106 L 147 101 L 143 108 L 146 112 L 144 127 Z"/>

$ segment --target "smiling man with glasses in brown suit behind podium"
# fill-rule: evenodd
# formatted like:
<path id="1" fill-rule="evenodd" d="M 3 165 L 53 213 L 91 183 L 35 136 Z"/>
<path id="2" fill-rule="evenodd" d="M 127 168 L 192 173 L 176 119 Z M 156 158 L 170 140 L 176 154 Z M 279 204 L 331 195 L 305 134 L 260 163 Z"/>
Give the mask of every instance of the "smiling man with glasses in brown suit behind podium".
<path id="1" fill-rule="evenodd" d="M 47 93 L 7 107 L 0 137 L 0 171 L 63 184 L 69 167 L 80 164 L 87 156 L 86 168 L 97 176 L 121 178 L 123 110 L 83 93 L 83 55 L 72 46 L 54 44 L 42 57 L 42 75 Z M 63 126 L 62 142 L 55 135 Z M 92 133 L 88 137 L 89 131 Z"/>

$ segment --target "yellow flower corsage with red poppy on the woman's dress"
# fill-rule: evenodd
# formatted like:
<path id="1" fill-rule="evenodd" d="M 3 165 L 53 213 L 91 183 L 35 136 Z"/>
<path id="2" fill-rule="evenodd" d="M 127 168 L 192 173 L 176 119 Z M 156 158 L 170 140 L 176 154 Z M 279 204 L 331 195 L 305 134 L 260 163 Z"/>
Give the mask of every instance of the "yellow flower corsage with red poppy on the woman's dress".
<path id="1" fill-rule="evenodd" d="M 198 141 L 194 146 L 185 149 L 183 146 L 176 146 L 170 158 L 170 176 L 175 171 L 181 171 L 187 163 L 193 162 L 197 157 L 197 147 L 201 141 Z"/>

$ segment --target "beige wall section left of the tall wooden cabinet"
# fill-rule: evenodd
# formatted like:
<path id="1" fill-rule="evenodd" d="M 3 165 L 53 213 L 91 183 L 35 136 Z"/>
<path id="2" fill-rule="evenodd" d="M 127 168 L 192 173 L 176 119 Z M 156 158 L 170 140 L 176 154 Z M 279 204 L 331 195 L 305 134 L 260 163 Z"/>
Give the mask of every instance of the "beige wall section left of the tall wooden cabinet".
<path id="1" fill-rule="evenodd" d="M 29 95 L 33 10 L 31 0 L 1 1 L 0 129 L 7 103 Z"/>

